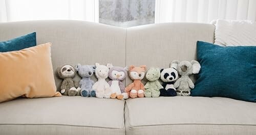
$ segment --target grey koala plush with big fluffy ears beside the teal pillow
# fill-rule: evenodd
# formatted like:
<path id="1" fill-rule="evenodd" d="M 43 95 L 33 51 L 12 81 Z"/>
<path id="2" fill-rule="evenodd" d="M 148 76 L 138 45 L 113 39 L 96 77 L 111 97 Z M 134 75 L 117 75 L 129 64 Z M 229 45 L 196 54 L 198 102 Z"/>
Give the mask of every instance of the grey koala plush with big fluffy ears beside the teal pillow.
<path id="1" fill-rule="evenodd" d="M 196 74 L 200 71 L 200 64 L 197 61 L 182 61 L 178 62 L 177 70 L 181 77 L 176 80 L 174 87 L 177 88 L 176 92 L 178 96 L 189 96 L 190 90 L 194 89 L 195 85 L 188 75 Z"/>

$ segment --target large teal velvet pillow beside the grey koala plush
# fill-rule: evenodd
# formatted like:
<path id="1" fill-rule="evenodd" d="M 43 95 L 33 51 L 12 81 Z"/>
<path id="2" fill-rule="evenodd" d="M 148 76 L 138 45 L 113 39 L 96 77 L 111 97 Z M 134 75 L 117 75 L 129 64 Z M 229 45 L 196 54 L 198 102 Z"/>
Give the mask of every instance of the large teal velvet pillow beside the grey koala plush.
<path id="1" fill-rule="evenodd" d="M 256 102 L 256 46 L 197 42 L 201 65 L 191 96 L 229 97 Z"/>

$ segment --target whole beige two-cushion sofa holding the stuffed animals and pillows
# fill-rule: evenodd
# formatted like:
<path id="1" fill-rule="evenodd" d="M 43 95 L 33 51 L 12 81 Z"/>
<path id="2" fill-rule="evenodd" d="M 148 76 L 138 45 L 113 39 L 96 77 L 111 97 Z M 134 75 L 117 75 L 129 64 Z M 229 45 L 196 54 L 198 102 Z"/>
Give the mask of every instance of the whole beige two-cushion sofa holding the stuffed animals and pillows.
<path id="1" fill-rule="evenodd" d="M 214 42 L 214 31 L 214 25 L 201 23 L 122 29 L 84 21 L 24 21 L 0 23 L 0 41 L 36 32 L 37 44 L 53 43 L 54 70 L 95 62 L 165 68 L 172 60 L 196 59 L 196 42 Z M 59 88 L 56 74 L 55 81 Z M 256 104 L 221 97 L 18 98 L 0 103 L 0 134 L 253 135 Z"/>

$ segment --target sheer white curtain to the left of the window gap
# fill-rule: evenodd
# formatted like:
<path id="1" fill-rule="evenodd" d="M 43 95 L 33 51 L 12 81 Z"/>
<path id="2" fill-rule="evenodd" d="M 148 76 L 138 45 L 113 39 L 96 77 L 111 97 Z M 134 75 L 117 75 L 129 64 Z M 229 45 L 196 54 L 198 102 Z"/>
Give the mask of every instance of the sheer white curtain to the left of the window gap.
<path id="1" fill-rule="evenodd" d="M 74 19 L 98 22 L 98 0 L 0 0 L 0 22 Z"/>

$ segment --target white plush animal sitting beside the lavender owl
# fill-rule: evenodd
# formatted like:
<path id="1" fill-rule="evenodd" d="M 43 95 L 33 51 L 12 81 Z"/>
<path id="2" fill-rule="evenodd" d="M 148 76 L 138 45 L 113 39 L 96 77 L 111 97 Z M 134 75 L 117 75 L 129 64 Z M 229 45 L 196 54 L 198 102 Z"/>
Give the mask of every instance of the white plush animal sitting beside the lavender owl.
<path id="1" fill-rule="evenodd" d="M 96 91 L 96 97 L 98 98 L 110 98 L 111 90 L 110 85 L 108 82 L 106 82 L 106 78 L 108 78 L 109 75 L 109 69 L 112 66 L 112 64 L 99 65 L 99 63 L 95 64 L 95 75 L 98 78 L 98 81 L 93 85 L 93 90 Z"/>

